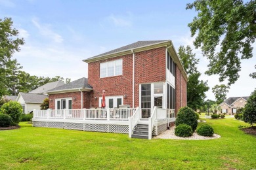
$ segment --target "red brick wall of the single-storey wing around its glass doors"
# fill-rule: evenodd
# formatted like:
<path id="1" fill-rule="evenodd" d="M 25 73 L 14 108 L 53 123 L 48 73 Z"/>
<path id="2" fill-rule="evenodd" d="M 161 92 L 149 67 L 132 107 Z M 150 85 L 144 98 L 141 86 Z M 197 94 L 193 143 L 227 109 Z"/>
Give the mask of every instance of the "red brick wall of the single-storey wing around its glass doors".
<path id="1" fill-rule="evenodd" d="M 90 93 L 91 92 L 83 92 L 83 108 L 89 109 L 91 107 Z M 50 94 L 49 108 L 55 109 L 55 99 L 61 99 L 61 98 L 72 98 L 72 109 L 81 109 L 81 92 Z"/>

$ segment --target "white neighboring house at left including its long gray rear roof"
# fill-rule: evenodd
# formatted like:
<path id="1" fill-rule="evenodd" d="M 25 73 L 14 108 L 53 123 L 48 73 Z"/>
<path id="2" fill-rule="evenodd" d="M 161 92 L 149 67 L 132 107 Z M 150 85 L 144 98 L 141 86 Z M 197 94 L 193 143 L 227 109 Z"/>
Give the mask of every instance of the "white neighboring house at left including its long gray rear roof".
<path id="1" fill-rule="evenodd" d="M 63 84 L 65 83 L 62 80 L 58 80 L 56 82 L 44 84 L 43 86 L 40 86 L 29 93 L 20 92 L 16 98 L 16 101 L 22 105 L 23 112 L 28 114 L 32 112 L 33 109 L 40 109 L 41 103 L 43 103 L 43 100 L 48 97 L 47 93 L 45 92 L 58 86 L 62 86 Z"/>

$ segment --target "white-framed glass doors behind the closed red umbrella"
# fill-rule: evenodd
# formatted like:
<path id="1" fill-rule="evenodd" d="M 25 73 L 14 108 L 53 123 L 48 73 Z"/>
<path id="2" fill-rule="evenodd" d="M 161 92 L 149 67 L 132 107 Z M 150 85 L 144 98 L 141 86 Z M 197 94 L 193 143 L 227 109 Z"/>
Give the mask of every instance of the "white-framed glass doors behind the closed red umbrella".
<path id="1" fill-rule="evenodd" d="M 123 105 L 123 95 L 106 96 L 106 108 L 119 108 Z M 99 97 L 98 107 L 101 107 L 102 97 Z"/>

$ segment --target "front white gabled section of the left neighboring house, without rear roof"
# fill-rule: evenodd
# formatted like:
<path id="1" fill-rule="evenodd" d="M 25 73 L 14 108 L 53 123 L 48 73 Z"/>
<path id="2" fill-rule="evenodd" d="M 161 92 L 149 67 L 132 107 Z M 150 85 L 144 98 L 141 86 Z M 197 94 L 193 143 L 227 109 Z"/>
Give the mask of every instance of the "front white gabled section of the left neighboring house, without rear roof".
<path id="1" fill-rule="evenodd" d="M 23 112 L 28 114 L 33 112 L 33 109 L 40 109 L 41 103 L 48 95 L 33 94 L 33 93 L 18 93 L 16 101 L 22 105 Z"/>

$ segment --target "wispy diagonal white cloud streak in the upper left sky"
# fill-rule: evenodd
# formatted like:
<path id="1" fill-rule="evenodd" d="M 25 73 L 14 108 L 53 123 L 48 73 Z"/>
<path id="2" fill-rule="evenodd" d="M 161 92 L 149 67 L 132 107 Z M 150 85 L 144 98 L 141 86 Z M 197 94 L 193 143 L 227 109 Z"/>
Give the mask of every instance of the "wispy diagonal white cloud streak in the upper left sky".
<path id="1" fill-rule="evenodd" d="M 50 29 L 51 25 L 41 25 L 36 18 L 33 18 L 32 22 L 33 25 L 39 29 L 41 35 L 47 36 L 49 39 L 53 39 L 54 42 L 60 43 L 63 41 L 62 36 L 58 35 L 58 33 L 54 33 L 54 31 Z"/>

